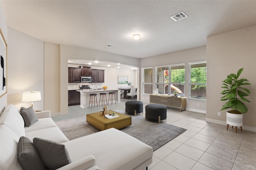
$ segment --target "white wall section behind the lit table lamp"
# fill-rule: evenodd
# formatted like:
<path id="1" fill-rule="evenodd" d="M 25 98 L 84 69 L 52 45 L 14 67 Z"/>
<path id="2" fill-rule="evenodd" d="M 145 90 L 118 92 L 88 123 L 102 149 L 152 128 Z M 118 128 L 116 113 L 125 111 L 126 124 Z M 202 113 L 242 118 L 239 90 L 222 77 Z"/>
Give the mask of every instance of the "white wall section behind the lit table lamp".
<path id="1" fill-rule="evenodd" d="M 22 92 L 40 91 L 34 110 L 44 110 L 44 42 L 8 27 L 7 104 L 29 107 Z"/>

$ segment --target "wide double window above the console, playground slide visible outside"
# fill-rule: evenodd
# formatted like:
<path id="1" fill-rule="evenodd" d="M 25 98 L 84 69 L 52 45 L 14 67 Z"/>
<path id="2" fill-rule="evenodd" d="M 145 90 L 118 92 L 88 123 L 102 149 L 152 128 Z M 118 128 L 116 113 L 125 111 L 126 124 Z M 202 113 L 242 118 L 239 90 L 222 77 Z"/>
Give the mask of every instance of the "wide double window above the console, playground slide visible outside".
<path id="1" fill-rule="evenodd" d="M 185 64 L 156 67 L 156 89 L 158 94 L 173 94 L 184 96 Z"/>

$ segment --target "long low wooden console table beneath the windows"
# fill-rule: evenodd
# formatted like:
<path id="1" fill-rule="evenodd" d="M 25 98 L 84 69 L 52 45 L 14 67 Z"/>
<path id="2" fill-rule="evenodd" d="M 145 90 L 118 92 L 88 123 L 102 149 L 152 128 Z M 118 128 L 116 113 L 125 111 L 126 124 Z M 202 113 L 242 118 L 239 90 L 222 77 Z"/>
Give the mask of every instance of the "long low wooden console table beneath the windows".
<path id="1" fill-rule="evenodd" d="M 165 106 L 180 108 L 180 111 L 186 110 L 186 97 L 172 97 L 169 95 L 150 94 L 150 103 L 162 104 Z M 182 110 L 184 108 L 184 110 Z"/>

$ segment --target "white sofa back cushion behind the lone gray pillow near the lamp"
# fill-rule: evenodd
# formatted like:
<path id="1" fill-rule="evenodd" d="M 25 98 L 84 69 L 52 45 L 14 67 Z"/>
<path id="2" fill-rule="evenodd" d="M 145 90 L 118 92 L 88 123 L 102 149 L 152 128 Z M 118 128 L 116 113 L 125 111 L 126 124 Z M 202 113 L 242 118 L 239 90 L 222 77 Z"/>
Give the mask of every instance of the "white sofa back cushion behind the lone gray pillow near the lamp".
<path id="1" fill-rule="evenodd" d="M 18 113 L 20 114 L 20 113 Z M 19 115 L 21 118 L 22 116 Z M 25 129 L 24 129 L 24 121 L 20 121 L 20 118 L 17 116 L 17 114 L 13 113 L 12 111 L 4 111 L 1 113 L 0 116 L 1 124 L 6 125 L 8 128 L 10 128 L 18 137 L 25 136 Z"/>

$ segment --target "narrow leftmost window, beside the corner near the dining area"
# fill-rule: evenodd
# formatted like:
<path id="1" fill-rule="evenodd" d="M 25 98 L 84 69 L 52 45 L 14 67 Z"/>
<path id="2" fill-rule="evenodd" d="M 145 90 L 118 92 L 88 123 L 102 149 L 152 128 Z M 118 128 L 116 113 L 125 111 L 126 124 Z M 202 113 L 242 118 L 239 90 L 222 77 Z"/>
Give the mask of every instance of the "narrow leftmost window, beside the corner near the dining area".
<path id="1" fill-rule="evenodd" d="M 143 94 L 152 94 L 153 91 L 153 68 L 142 68 L 142 90 Z"/>

